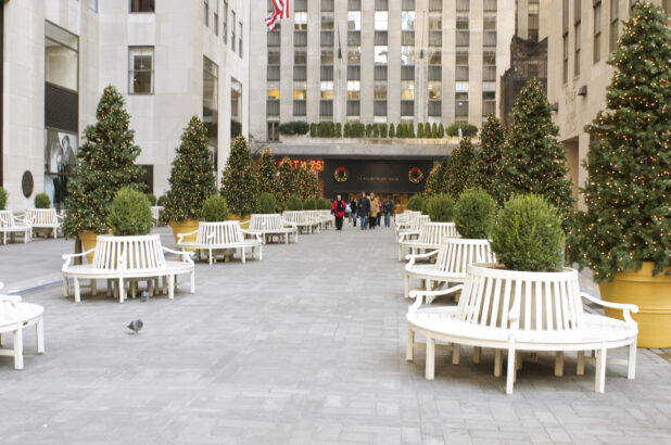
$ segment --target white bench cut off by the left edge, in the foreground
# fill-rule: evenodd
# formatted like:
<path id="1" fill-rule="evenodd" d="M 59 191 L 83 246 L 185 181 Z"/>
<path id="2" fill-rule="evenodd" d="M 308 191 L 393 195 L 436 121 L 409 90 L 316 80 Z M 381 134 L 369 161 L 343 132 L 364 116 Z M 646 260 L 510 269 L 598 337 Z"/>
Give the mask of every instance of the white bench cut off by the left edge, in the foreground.
<path id="1" fill-rule="evenodd" d="M 0 289 L 2 283 L 0 283 Z M 37 331 L 37 353 L 45 353 L 45 308 L 33 303 L 24 303 L 18 295 L 0 295 L 0 356 L 14 357 L 14 369 L 23 369 L 23 330 L 30 326 Z M 11 349 L 2 346 L 2 335 L 13 333 Z"/>

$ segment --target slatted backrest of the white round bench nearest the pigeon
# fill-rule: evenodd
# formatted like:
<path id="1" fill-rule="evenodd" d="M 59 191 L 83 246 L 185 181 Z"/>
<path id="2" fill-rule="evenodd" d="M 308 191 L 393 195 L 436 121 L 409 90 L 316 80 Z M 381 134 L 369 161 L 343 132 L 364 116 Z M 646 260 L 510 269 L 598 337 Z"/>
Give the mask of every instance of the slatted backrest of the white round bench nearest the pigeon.
<path id="1" fill-rule="evenodd" d="M 93 255 L 97 269 L 118 270 L 125 258 L 125 269 L 161 269 L 165 267 L 165 256 L 161 237 L 145 234 L 141 237 L 113 237 L 99 234 Z"/>

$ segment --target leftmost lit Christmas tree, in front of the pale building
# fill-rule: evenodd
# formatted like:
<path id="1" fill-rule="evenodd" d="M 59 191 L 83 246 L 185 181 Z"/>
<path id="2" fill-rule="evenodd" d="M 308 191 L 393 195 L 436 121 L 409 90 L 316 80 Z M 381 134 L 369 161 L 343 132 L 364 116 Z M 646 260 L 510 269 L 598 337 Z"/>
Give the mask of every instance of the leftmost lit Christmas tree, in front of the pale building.
<path id="1" fill-rule="evenodd" d="M 106 233 L 115 193 L 126 186 L 141 188 L 143 169 L 135 165 L 140 148 L 135 144 L 135 131 L 128 128 L 130 116 L 124 97 L 113 86 L 103 91 L 96 118 L 96 125 L 84 130 L 75 176 L 67 182 L 67 214 L 63 221 L 66 237 L 89 230 Z"/>

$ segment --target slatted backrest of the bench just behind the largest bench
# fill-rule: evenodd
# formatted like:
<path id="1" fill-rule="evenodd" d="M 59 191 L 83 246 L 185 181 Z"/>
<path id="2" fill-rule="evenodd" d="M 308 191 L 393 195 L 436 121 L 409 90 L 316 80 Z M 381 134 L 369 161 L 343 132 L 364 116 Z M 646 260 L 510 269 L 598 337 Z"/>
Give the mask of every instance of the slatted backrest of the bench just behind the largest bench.
<path id="1" fill-rule="evenodd" d="M 468 265 L 473 263 L 496 263 L 489 240 L 443 238 L 435 259 L 439 270 L 466 276 Z"/>

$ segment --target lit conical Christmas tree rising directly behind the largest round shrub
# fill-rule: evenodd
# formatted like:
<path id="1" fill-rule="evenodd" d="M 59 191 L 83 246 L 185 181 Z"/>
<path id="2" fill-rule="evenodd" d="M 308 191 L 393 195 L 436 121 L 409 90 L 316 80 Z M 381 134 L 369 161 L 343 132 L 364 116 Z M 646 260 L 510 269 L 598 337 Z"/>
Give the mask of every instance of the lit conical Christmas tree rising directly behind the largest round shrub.
<path id="1" fill-rule="evenodd" d="M 499 175 L 494 181 L 498 203 L 512 194 L 544 196 L 564 214 L 573 212 L 571 181 L 567 179 L 566 150 L 557 141 L 559 127 L 541 82 L 532 78 L 512 109 L 512 124 L 504 143 Z"/>

